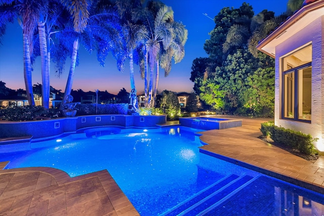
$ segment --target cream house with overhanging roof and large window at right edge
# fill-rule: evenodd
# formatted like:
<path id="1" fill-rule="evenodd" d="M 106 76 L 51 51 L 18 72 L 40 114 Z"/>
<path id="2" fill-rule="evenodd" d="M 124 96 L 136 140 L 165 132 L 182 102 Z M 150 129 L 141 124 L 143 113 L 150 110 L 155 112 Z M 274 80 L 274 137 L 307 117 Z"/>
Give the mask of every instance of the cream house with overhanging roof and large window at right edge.
<path id="1" fill-rule="evenodd" d="M 305 5 L 257 49 L 275 58 L 275 125 L 318 138 L 323 154 L 324 0 Z"/>

